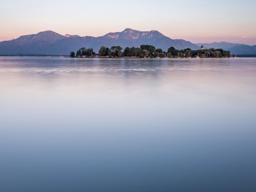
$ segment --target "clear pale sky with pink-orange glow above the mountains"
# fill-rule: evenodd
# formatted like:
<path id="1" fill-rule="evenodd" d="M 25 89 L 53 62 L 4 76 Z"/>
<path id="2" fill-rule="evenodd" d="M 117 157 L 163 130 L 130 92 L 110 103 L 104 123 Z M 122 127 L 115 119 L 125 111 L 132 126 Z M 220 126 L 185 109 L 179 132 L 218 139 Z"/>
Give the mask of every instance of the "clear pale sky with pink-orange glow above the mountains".
<path id="1" fill-rule="evenodd" d="M 98 37 L 132 28 L 192 43 L 256 45 L 255 7 L 252 0 L 2 0 L 0 41 L 47 30 Z"/>

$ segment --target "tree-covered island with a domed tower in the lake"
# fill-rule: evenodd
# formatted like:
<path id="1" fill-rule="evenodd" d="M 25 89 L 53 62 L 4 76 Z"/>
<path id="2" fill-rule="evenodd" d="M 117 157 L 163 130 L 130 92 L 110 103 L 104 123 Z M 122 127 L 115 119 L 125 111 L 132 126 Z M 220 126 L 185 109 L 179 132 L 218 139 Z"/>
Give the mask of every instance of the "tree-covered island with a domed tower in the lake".
<path id="1" fill-rule="evenodd" d="M 112 46 L 110 48 L 101 46 L 99 53 L 95 53 L 92 48 L 80 48 L 77 53 L 71 52 L 71 58 L 229 58 L 229 51 L 223 49 L 204 49 L 201 46 L 199 50 L 190 48 L 178 50 L 171 46 L 167 52 L 161 48 L 151 45 L 141 45 L 140 47 L 126 47 L 124 50 L 121 46 Z"/>

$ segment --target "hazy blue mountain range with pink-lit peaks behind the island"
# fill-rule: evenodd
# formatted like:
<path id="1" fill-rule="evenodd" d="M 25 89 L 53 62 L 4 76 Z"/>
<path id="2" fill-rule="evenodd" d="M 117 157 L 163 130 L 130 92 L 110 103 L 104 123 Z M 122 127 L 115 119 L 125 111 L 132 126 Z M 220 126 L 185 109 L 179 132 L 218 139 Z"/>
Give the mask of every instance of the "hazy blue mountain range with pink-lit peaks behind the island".
<path id="1" fill-rule="evenodd" d="M 198 50 L 201 45 L 204 45 L 205 48 L 222 48 L 237 54 L 256 55 L 256 46 L 228 42 L 193 44 L 182 39 L 172 40 L 155 30 L 137 31 L 130 28 L 122 32 L 107 33 L 100 37 L 61 35 L 53 31 L 23 35 L 14 40 L 0 42 L 0 55 L 69 55 L 70 52 L 76 52 L 81 47 L 93 48 L 98 53 L 100 46 L 125 48 L 141 45 L 152 45 L 162 48 L 163 51 L 167 51 L 170 46 L 176 49 Z"/>

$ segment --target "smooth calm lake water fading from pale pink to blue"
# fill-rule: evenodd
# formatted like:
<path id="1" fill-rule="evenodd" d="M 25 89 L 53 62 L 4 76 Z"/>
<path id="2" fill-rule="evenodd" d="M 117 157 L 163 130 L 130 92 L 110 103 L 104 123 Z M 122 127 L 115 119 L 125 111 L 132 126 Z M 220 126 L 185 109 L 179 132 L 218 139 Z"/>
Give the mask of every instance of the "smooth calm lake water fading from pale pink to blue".
<path id="1" fill-rule="evenodd" d="M 256 59 L 0 57 L 0 191 L 256 191 Z"/>

